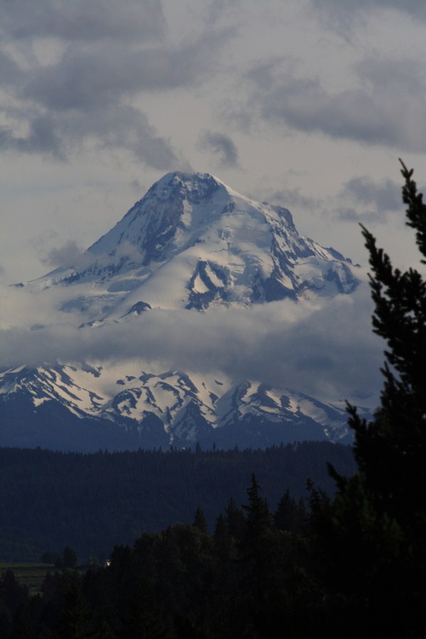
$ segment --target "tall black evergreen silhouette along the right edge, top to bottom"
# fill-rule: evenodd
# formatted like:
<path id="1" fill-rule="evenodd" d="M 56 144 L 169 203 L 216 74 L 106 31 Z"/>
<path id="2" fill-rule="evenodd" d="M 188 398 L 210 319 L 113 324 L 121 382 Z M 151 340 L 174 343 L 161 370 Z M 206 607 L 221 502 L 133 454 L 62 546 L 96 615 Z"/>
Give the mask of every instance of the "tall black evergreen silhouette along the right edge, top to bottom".
<path id="1" fill-rule="evenodd" d="M 401 173 L 407 224 L 426 258 L 426 206 L 413 170 L 403 165 Z M 311 502 L 315 589 L 320 614 L 333 618 L 336 634 L 353 615 L 346 636 L 359 636 L 368 619 L 372 635 L 420 637 L 426 632 L 426 283 L 413 268 L 393 268 L 364 227 L 363 235 L 373 331 L 388 346 L 384 386 L 372 422 L 349 406 L 359 473 L 344 479 L 331 467 L 336 497 L 330 502 L 316 493 Z"/>

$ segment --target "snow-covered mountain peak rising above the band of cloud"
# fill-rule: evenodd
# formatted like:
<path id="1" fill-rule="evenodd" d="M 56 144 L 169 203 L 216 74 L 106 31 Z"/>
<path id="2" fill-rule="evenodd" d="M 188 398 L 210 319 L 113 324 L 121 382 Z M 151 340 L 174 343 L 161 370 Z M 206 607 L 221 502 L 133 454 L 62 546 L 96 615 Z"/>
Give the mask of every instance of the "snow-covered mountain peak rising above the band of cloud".
<path id="1" fill-rule="evenodd" d="M 36 283 L 78 284 L 93 321 L 149 307 L 206 310 L 351 293 L 353 269 L 334 249 L 300 236 L 288 209 L 250 200 L 208 173 L 175 172 L 74 264 Z"/>

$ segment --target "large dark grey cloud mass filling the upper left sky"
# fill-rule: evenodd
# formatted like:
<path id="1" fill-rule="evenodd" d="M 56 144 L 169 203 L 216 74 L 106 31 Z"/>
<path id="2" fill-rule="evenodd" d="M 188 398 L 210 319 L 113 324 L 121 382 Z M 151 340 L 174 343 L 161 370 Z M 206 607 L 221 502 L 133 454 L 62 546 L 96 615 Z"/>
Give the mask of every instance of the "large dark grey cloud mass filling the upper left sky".
<path id="1" fill-rule="evenodd" d="M 234 31 L 204 27 L 169 42 L 154 0 L 6 3 L 0 148 L 67 160 L 94 144 L 170 170 L 176 153 L 149 123 L 143 94 L 192 87 L 218 72 L 217 54 Z"/>

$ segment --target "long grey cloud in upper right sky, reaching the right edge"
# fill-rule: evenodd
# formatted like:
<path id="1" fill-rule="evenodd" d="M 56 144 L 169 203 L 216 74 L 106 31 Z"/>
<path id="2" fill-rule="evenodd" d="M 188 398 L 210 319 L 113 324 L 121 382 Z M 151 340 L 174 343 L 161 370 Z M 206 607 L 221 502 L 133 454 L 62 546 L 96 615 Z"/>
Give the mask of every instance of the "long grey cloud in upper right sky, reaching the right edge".
<path id="1" fill-rule="evenodd" d="M 276 60 L 251 71 L 253 101 L 263 120 L 367 145 L 426 151 L 422 65 L 365 58 L 354 67 L 356 85 L 337 92 L 296 71 Z"/>

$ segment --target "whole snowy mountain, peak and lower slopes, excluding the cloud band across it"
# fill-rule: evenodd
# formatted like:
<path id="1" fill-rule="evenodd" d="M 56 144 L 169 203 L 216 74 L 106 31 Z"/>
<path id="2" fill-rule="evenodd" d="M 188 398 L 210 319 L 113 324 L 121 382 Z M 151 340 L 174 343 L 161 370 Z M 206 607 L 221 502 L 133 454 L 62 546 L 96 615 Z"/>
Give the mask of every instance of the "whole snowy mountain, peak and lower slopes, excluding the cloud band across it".
<path id="1" fill-rule="evenodd" d="M 60 291 L 63 323 L 78 318 L 86 339 L 114 327 L 130 340 L 129 327 L 143 330 L 146 313 L 303 304 L 358 285 L 351 261 L 300 236 L 288 209 L 250 200 L 209 174 L 176 172 L 77 261 L 21 286 L 35 297 Z M 31 328 L 37 339 L 43 327 Z M 89 451 L 348 437 L 342 406 L 278 380 L 206 369 L 150 370 L 142 356 L 17 361 L 0 371 L 0 444 Z"/>

